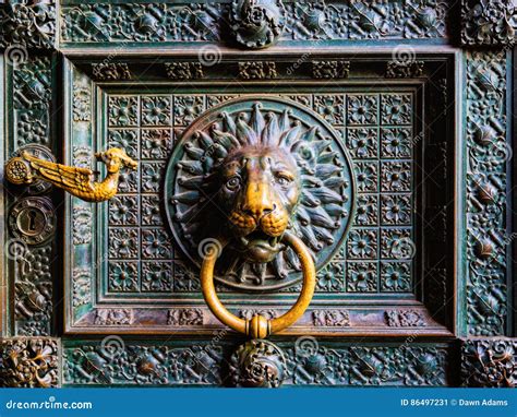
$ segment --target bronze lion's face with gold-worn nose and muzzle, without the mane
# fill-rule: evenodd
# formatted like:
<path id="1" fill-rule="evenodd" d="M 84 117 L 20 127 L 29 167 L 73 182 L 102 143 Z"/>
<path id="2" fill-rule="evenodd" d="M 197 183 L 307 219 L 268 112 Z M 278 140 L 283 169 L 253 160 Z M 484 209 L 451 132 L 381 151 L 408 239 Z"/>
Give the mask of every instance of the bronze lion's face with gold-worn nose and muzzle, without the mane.
<path id="1" fill-rule="evenodd" d="M 240 148 L 221 165 L 220 180 L 219 203 L 237 249 L 252 262 L 272 261 L 300 199 L 294 159 L 278 148 Z"/>

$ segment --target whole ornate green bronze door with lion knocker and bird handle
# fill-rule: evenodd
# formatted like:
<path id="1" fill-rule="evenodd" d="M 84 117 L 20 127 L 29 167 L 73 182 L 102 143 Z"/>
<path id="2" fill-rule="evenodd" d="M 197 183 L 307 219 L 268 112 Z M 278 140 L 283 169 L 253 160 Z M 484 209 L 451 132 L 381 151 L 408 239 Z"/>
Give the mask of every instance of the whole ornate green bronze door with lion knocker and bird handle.
<path id="1" fill-rule="evenodd" d="M 514 383 L 504 39 L 422 1 L 0 10 L 8 385 Z"/>

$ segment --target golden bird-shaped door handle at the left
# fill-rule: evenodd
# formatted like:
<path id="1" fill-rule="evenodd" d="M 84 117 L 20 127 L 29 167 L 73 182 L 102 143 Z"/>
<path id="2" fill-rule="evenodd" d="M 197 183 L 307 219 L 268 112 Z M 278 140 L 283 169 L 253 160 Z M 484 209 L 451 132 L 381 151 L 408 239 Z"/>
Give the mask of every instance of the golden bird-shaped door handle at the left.
<path id="1" fill-rule="evenodd" d="M 31 184 L 36 180 L 47 181 L 81 200 L 99 203 L 117 194 L 120 169 L 124 167 L 136 169 L 137 163 L 118 147 L 97 153 L 95 157 L 107 168 L 103 181 L 96 181 L 95 172 L 89 168 L 56 164 L 37 158 L 26 151 L 8 160 L 5 178 L 14 184 Z"/>

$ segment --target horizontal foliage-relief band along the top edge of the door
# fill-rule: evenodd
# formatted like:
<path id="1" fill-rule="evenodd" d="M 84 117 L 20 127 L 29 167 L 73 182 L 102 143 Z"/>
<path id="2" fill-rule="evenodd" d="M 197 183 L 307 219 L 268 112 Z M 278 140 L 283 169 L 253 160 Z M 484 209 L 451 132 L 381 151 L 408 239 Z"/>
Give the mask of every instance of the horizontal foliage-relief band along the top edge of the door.
<path id="1" fill-rule="evenodd" d="M 61 4 L 61 40 L 68 43 L 223 41 L 229 32 L 244 47 L 276 38 L 446 38 L 447 1 L 111 2 Z M 228 10 L 230 9 L 230 10 Z M 285 10 L 285 11 L 284 11 Z M 120 25 L 123 21 L 124 24 Z M 270 39 L 270 40 L 269 40 Z"/>

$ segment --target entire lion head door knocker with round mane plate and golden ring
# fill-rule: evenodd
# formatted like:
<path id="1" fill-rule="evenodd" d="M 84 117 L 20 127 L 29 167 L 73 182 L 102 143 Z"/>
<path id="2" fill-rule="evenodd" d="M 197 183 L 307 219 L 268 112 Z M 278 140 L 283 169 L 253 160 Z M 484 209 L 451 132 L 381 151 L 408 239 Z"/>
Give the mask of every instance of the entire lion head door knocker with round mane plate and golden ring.
<path id="1" fill-rule="evenodd" d="M 353 194 L 338 133 L 306 107 L 273 96 L 238 98 L 202 115 L 183 133 L 166 177 L 168 223 L 201 266 L 208 307 L 258 338 L 303 314 L 315 271 L 345 239 Z M 244 320 L 223 306 L 214 279 L 262 293 L 303 283 L 286 314 Z"/>

